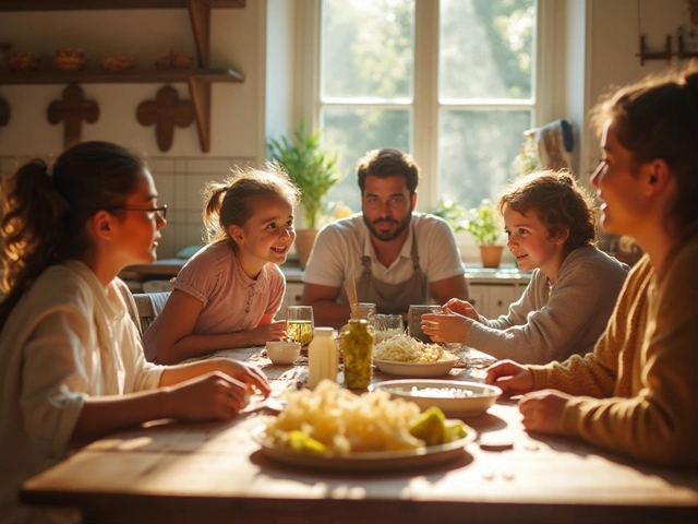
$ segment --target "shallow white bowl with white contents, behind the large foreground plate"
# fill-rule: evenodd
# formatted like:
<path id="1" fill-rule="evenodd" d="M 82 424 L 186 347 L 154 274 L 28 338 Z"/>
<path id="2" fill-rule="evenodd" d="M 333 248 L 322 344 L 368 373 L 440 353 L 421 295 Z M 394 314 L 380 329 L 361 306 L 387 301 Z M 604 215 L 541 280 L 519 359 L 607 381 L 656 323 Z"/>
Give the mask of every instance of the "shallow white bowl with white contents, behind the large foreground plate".
<path id="1" fill-rule="evenodd" d="M 422 410 L 436 406 L 447 417 L 481 415 L 502 395 L 496 385 L 456 380 L 388 380 L 372 388 L 413 402 Z"/>

